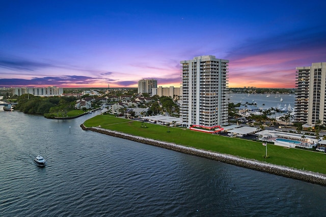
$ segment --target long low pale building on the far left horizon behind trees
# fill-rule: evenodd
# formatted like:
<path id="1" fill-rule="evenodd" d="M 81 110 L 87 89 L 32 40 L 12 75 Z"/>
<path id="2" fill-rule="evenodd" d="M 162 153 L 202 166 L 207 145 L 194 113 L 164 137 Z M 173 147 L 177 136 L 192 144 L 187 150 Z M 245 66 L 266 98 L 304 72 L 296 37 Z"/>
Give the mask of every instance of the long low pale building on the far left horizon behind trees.
<path id="1" fill-rule="evenodd" d="M 31 94 L 39 97 L 63 96 L 63 88 L 56 86 L 13 88 L 13 95 L 21 96 L 23 94 Z"/>

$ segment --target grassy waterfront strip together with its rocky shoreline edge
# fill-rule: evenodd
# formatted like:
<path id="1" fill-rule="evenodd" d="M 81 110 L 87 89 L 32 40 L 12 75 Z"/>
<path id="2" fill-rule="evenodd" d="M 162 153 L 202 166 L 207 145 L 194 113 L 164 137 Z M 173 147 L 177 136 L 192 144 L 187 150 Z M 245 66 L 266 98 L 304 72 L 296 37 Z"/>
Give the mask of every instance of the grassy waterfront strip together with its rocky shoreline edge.
<path id="1" fill-rule="evenodd" d="M 270 158 L 262 158 L 259 142 L 208 135 L 139 121 L 98 115 L 81 125 L 83 130 L 129 139 L 224 163 L 326 186 L 326 171 L 316 165 L 325 154 L 269 145 Z M 314 166 L 315 165 L 315 166 Z"/>

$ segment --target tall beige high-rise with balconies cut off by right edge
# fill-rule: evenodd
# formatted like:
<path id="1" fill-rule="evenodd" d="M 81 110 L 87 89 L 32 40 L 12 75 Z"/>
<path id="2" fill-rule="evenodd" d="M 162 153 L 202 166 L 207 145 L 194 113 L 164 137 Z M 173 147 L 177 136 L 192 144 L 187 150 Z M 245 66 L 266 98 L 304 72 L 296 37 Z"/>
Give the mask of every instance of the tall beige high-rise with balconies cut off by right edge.
<path id="1" fill-rule="evenodd" d="M 326 123 L 326 63 L 296 67 L 295 121 L 315 126 Z"/>

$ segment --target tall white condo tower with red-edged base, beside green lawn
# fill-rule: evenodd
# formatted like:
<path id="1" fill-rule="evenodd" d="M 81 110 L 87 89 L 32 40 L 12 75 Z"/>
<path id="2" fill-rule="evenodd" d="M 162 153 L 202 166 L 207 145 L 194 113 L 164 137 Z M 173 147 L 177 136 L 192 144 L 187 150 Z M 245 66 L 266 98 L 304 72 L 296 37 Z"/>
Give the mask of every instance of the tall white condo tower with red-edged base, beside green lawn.
<path id="1" fill-rule="evenodd" d="M 215 56 L 198 56 L 182 64 L 180 116 L 184 127 L 228 124 L 228 63 Z"/>

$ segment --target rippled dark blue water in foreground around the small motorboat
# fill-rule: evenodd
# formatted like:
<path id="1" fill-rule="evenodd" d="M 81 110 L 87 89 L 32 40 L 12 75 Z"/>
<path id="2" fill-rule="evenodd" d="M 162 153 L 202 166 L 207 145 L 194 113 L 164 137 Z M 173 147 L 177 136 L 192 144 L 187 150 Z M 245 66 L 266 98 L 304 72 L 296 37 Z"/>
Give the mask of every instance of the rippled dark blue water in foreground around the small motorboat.
<path id="1" fill-rule="evenodd" d="M 80 129 L 93 115 L 0 106 L 0 216 L 326 215 L 326 187 Z"/>

